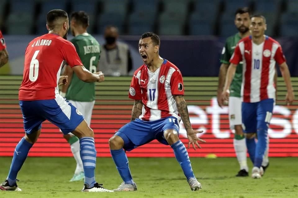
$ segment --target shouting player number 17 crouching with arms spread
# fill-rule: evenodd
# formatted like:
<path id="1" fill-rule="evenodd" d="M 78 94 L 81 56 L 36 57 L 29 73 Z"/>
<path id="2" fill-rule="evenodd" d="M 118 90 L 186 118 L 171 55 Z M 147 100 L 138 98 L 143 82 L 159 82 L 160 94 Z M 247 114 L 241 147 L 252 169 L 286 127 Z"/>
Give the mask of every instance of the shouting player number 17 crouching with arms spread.
<path id="1" fill-rule="evenodd" d="M 114 191 L 135 191 L 137 186 L 130 174 L 125 151 L 131 151 L 152 140 L 170 145 L 187 182 L 193 191 L 201 188 L 195 178 L 187 150 L 179 140 L 179 123 L 182 119 L 188 137 L 188 148 L 201 148 L 192 129 L 186 102 L 183 98 L 183 79 L 179 69 L 159 55 L 160 38 L 144 33 L 139 40 L 139 53 L 144 64 L 133 75 L 129 98 L 134 100 L 131 122 L 121 127 L 109 140 L 111 155 L 123 183 Z M 125 150 L 125 151 L 124 151 Z"/>

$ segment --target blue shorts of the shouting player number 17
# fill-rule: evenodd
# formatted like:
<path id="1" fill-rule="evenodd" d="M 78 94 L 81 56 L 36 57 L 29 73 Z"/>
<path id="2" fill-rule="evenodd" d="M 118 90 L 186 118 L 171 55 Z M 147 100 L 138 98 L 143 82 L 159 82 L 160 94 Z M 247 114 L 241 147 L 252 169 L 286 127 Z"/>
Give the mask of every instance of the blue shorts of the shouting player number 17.
<path id="1" fill-rule="evenodd" d="M 121 127 L 115 135 L 120 136 L 124 140 L 123 148 L 126 151 L 131 151 L 152 140 L 158 140 L 162 144 L 169 145 L 165 140 L 164 131 L 167 129 L 174 129 L 179 132 L 179 121 L 180 120 L 174 116 L 156 121 L 135 119 Z"/>

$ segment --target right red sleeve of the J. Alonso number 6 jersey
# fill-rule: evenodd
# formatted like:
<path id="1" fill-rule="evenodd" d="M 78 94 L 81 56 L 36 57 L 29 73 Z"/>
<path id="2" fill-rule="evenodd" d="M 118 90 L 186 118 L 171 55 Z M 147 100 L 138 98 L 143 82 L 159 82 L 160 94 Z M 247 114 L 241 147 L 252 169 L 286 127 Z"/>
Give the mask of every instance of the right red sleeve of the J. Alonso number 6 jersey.
<path id="1" fill-rule="evenodd" d="M 77 51 L 75 50 L 75 46 L 71 42 L 65 44 L 65 46 L 62 49 L 62 53 L 64 60 L 66 60 L 67 64 L 70 67 L 74 67 L 76 65 L 83 65 Z"/>

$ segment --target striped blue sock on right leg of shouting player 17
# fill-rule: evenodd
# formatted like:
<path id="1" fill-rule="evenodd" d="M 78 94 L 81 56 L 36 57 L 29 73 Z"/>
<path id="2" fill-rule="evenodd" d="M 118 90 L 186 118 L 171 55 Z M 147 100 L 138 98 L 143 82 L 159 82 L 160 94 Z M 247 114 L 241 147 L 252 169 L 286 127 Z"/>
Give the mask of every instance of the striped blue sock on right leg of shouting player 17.
<path id="1" fill-rule="evenodd" d="M 174 150 L 175 157 L 179 162 L 187 181 L 190 178 L 195 178 L 195 175 L 192 171 L 192 165 L 190 164 L 190 160 L 188 157 L 187 150 L 181 140 L 178 140 L 174 144 L 171 145 L 172 149 Z"/>

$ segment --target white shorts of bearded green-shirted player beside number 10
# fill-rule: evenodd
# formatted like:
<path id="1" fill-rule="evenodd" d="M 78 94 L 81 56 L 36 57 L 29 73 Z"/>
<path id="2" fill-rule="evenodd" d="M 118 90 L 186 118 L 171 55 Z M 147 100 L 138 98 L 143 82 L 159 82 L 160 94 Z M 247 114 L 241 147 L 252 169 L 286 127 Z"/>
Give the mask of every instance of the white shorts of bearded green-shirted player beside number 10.
<path id="1" fill-rule="evenodd" d="M 236 125 L 242 125 L 241 106 L 242 101 L 240 97 L 229 97 L 229 123 L 231 130 Z"/>

